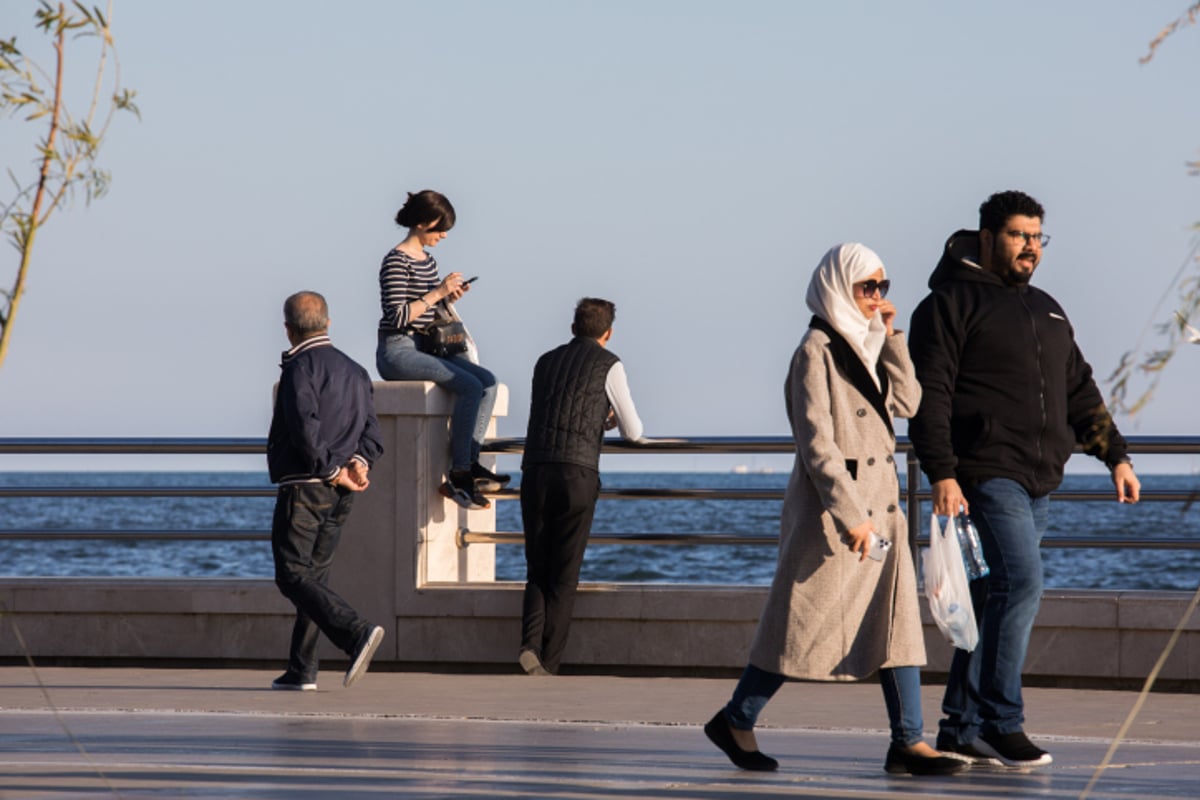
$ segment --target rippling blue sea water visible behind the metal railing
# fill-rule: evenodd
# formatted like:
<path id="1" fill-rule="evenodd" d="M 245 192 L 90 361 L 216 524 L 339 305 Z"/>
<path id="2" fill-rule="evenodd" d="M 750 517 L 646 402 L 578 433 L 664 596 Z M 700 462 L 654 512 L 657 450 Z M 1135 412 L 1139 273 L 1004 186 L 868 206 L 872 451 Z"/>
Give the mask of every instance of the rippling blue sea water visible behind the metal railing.
<path id="1" fill-rule="evenodd" d="M 605 488 L 774 489 L 787 475 L 606 473 Z M 1198 491 L 1200 476 L 1147 475 L 1144 487 Z M 260 473 L 0 473 L 0 486 L 206 486 L 270 489 Z M 1110 491 L 1105 475 L 1068 475 L 1072 491 Z M 593 533 L 721 533 L 776 535 L 779 500 L 601 500 Z M 251 498 L 0 498 L 0 530 L 250 530 L 266 531 L 272 497 Z M 520 531 L 516 500 L 500 500 L 497 530 Z M 929 513 L 929 506 L 924 506 Z M 1181 503 L 1050 504 L 1048 536 L 1183 537 L 1200 540 L 1200 509 Z M 0 540 L 0 575 L 89 577 L 272 576 L 268 541 Z M 588 548 L 584 582 L 770 583 L 774 546 L 631 546 Z M 1046 585 L 1074 589 L 1171 589 L 1200 582 L 1200 549 L 1045 548 Z M 336 572 L 336 566 L 335 566 Z M 499 581 L 523 581 L 520 545 L 496 548 Z"/>

